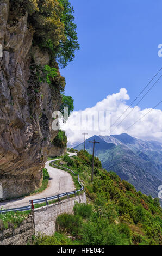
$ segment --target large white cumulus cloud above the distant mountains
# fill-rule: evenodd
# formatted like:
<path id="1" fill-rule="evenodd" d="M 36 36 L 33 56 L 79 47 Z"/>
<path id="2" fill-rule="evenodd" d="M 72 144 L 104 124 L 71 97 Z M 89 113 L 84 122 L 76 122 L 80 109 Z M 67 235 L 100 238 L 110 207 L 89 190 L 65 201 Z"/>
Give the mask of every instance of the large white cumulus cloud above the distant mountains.
<path id="1" fill-rule="evenodd" d="M 61 125 L 62 129 L 68 134 L 68 144 L 74 146 L 82 143 L 84 141 L 82 133 L 84 132 L 88 133 L 86 138 L 94 135 L 106 136 L 128 133 L 130 136 L 139 139 L 152 139 L 162 142 L 162 111 L 153 109 L 148 113 L 151 108 L 140 109 L 138 106 L 135 106 L 130 107 L 122 115 L 128 108 L 127 100 L 129 99 L 126 88 L 121 88 L 118 93 L 108 95 L 91 108 L 73 111 L 68 118 L 68 122 Z M 131 113 L 128 117 L 117 126 L 130 111 Z M 142 118 L 146 113 L 148 114 Z M 110 126 L 120 115 L 122 117 L 110 129 Z M 142 119 L 135 123 L 140 118 Z M 128 129 L 131 125 L 133 126 Z"/>

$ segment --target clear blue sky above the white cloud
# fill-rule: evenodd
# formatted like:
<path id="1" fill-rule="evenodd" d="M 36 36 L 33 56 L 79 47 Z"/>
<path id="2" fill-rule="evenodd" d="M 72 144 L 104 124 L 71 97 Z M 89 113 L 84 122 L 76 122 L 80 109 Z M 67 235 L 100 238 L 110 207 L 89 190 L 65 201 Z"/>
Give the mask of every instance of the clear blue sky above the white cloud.
<path id="1" fill-rule="evenodd" d="M 92 107 L 122 87 L 131 103 L 161 68 L 161 0 L 70 2 L 80 51 L 61 75 L 66 78 L 65 94 L 74 98 L 74 110 Z M 141 109 L 162 100 L 161 84 L 162 78 L 142 100 Z"/>

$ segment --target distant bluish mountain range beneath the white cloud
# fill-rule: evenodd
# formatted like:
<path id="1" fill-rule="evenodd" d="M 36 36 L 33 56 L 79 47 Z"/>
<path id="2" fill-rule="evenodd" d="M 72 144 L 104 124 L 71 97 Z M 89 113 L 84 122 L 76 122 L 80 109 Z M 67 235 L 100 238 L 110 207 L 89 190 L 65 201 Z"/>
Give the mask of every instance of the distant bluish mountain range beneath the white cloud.
<path id="1" fill-rule="evenodd" d="M 99 157 L 103 168 L 113 170 L 121 179 L 133 184 L 136 190 L 146 195 L 158 197 L 158 187 L 162 185 L 162 144 L 157 141 L 142 141 L 126 133 L 111 136 L 93 136 L 86 140 L 86 150 Z M 74 147 L 84 149 L 84 143 Z"/>

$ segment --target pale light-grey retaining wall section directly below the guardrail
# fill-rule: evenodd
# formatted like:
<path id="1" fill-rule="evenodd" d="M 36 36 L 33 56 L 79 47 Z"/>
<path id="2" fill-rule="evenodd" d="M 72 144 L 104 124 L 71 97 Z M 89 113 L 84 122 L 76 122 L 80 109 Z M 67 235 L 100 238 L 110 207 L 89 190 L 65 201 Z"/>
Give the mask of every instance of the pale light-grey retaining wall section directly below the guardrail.
<path id="1" fill-rule="evenodd" d="M 75 201 L 78 203 L 86 203 L 85 193 L 77 197 L 32 210 L 35 234 L 37 235 L 40 232 L 45 235 L 53 235 L 55 232 L 56 218 L 58 215 L 64 214 L 65 212 L 67 214 L 72 214 Z"/>

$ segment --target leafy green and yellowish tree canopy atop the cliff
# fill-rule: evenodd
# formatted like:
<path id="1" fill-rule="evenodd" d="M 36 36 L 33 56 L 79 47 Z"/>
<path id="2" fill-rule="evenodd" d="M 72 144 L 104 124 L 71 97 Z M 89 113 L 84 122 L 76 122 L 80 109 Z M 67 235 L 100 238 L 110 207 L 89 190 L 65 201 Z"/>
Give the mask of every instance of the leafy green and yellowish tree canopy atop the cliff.
<path id="1" fill-rule="evenodd" d="M 28 11 L 28 21 L 34 27 L 34 40 L 51 52 L 65 68 L 79 50 L 73 8 L 68 0 L 11 0 L 10 11 L 20 17 Z"/>

